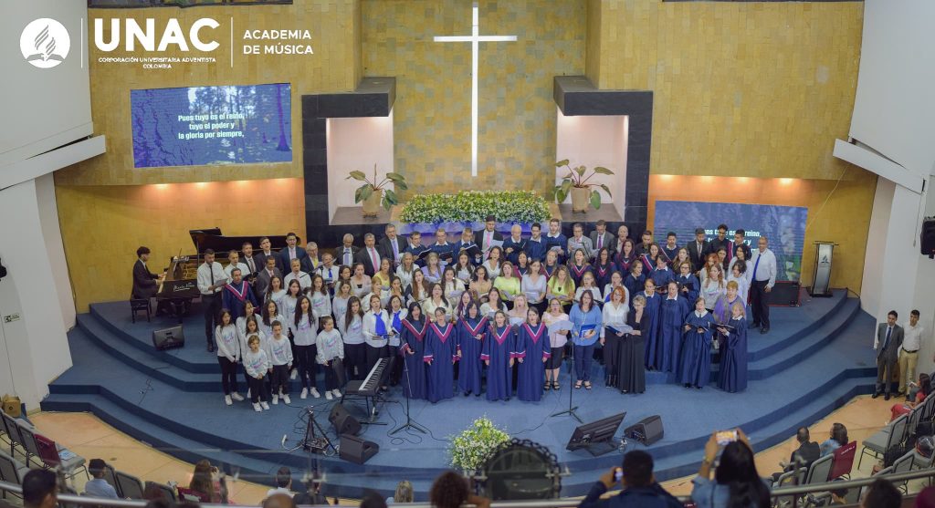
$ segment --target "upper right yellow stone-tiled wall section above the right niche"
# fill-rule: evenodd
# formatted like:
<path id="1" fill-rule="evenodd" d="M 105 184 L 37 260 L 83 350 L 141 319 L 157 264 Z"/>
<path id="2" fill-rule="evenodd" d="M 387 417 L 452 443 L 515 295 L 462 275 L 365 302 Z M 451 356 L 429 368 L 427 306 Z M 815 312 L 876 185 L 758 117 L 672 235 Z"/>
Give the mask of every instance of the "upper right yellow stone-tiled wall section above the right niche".
<path id="1" fill-rule="evenodd" d="M 588 6 L 600 9 L 588 15 L 600 26 L 588 77 L 654 91 L 653 173 L 841 175 L 831 151 L 850 126 L 862 2 Z"/>

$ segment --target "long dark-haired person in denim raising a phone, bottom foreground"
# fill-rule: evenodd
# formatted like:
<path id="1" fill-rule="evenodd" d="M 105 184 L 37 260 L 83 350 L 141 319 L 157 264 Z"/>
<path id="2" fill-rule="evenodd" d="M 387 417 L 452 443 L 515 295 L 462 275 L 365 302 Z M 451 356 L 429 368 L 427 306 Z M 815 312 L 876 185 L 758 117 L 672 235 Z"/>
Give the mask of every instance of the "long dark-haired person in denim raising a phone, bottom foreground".
<path id="1" fill-rule="evenodd" d="M 692 480 L 692 501 L 697 508 L 770 508 L 770 488 L 756 473 L 754 451 L 743 430 L 736 429 L 737 441 L 720 445 L 714 432 L 704 446 L 704 459 L 698 476 Z M 721 449 L 721 459 L 711 479 L 711 468 Z"/>

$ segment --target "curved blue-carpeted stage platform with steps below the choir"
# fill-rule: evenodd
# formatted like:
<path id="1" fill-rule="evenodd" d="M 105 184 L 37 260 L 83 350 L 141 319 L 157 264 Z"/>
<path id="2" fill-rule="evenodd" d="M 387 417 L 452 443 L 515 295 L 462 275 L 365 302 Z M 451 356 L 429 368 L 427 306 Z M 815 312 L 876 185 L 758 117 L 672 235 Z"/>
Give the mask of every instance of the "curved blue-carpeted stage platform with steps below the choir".
<path id="1" fill-rule="evenodd" d="M 870 393 L 876 369 L 868 343 L 874 320 L 843 289 L 833 298 L 810 299 L 802 306 L 771 309 L 772 330 L 752 333 L 749 341 L 751 383 L 742 393 L 730 394 L 715 386 L 697 390 L 671 383 L 665 374 L 649 373 L 642 395 L 623 395 L 604 388 L 601 367 L 592 390 L 574 390 L 574 404 L 585 422 L 626 411 L 623 427 L 645 416 L 662 416 L 665 437 L 649 446 L 660 480 L 694 473 L 712 430 L 741 426 L 761 450 L 794 434 L 799 425 L 812 424 L 854 396 Z M 270 483 L 281 464 L 303 471 L 309 455 L 286 452 L 304 428 L 296 425 L 306 406 L 337 444 L 327 422 L 335 402 L 300 400 L 293 388 L 292 404 L 271 406 L 255 413 L 248 402 L 227 407 L 220 387 L 216 356 L 205 350 L 204 325 L 197 305 L 183 323 L 187 344 L 158 352 L 151 345 L 153 330 L 174 326 L 158 317 L 131 323 L 128 303 L 96 303 L 78 317 L 69 332 L 74 366 L 50 384 L 44 411 L 90 411 L 110 425 L 180 459 L 210 459 L 230 464 L 242 477 Z M 396 388 L 381 408 L 387 425 L 365 426 L 362 436 L 381 446 L 364 465 L 337 457 L 314 456 L 326 473 L 327 495 L 360 497 L 367 488 L 392 494 L 401 479 L 412 481 L 418 500 L 432 479 L 449 467 L 448 438 L 476 416 L 489 416 L 512 436 L 545 445 L 568 468 L 563 495 L 586 493 L 597 476 L 620 462 L 619 452 L 593 458 L 586 451 L 568 452 L 565 445 L 578 422 L 569 416 L 550 417 L 568 408 L 571 389 L 563 369 L 562 390 L 546 392 L 541 402 L 487 402 L 462 397 L 430 404 L 411 404 L 413 418 L 430 435 L 388 432 L 405 420 L 405 400 Z M 716 379 L 716 373 L 712 375 Z M 239 380 L 242 385 L 242 375 Z M 324 387 L 324 380 L 319 379 Z M 294 384 L 295 387 L 295 384 Z M 240 388 L 241 394 L 246 387 Z M 350 405 L 350 402 L 348 402 Z M 362 410 L 360 411 L 362 413 Z M 619 437 L 619 434 L 618 434 Z M 642 448 L 629 443 L 627 449 Z"/>

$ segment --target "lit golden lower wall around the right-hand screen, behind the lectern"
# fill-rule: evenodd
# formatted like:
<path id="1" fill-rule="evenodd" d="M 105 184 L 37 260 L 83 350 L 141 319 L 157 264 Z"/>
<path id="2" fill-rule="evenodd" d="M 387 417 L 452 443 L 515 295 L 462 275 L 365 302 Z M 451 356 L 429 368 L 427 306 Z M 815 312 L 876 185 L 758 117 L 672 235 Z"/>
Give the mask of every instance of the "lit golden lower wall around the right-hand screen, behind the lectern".
<path id="1" fill-rule="evenodd" d="M 802 286 L 813 281 L 814 242 L 828 241 L 838 244 L 831 286 L 860 294 L 876 175 L 852 165 L 844 176 L 839 184 L 836 180 L 798 178 L 653 175 L 649 181 L 647 224 L 653 228 L 656 201 L 805 206 L 809 213 L 802 251 Z M 725 222 L 733 227 L 729 218 Z M 654 233 L 656 239 L 665 238 L 666 232 Z M 679 244 L 690 240 L 680 238 Z M 770 238 L 770 243 L 775 245 L 776 240 Z"/>

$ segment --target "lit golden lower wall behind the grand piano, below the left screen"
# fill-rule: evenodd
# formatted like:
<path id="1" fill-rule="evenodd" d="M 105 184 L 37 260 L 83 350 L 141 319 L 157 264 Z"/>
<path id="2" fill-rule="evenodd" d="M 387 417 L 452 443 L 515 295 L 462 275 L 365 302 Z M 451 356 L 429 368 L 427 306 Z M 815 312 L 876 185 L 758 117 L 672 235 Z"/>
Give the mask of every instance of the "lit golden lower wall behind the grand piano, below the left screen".
<path id="1" fill-rule="evenodd" d="M 304 235 L 301 178 L 134 186 L 57 186 L 59 223 L 78 312 L 88 303 L 129 298 L 139 246 L 159 273 L 179 253 L 194 254 L 188 231 Z"/>

